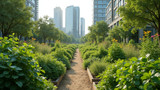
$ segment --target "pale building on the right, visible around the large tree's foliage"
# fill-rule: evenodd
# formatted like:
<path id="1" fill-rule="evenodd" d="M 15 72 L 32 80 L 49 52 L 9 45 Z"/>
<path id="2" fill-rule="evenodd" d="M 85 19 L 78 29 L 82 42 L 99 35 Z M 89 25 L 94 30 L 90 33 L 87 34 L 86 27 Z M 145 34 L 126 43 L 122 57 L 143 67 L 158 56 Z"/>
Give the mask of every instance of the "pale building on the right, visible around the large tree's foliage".
<path id="1" fill-rule="evenodd" d="M 120 6 L 124 6 L 126 4 L 125 0 L 110 0 L 108 6 L 106 7 L 106 23 L 112 29 L 114 26 L 119 26 L 119 22 L 123 20 L 120 17 L 117 10 Z M 154 35 L 155 29 L 151 26 L 147 25 L 145 29 L 138 30 L 135 35 L 131 35 L 131 39 L 134 39 L 136 42 L 141 42 L 139 38 L 143 38 L 143 31 L 151 31 L 151 35 Z M 129 39 L 128 39 L 129 40 Z"/>

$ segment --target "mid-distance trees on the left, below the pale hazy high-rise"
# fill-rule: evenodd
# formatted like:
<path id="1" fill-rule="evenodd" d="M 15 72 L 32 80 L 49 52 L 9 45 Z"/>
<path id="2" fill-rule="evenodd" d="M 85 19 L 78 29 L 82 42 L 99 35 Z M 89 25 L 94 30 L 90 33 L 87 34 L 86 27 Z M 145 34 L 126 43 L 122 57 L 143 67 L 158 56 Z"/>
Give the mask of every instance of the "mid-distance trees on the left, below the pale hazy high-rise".
<path id="1" fill-rule="evenodd" d="M 36 22 L 35 33 L 41 41 L 43 40 L 43 43 L 45 43 L 46 40 L 48 40 L 49 43 L 56 40 L 64 43 L 72 42 L 71 37 L 56 28 L 53 20 L 48 16 L 44 16 Z"/>

